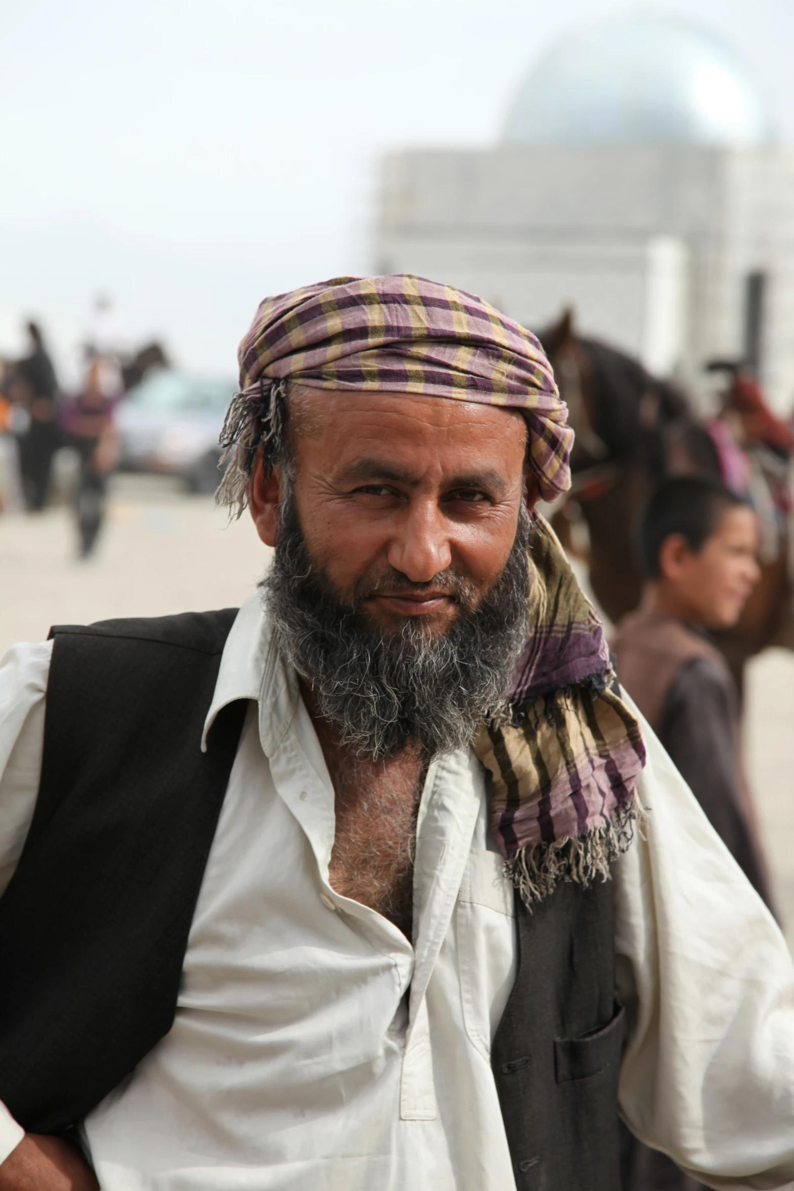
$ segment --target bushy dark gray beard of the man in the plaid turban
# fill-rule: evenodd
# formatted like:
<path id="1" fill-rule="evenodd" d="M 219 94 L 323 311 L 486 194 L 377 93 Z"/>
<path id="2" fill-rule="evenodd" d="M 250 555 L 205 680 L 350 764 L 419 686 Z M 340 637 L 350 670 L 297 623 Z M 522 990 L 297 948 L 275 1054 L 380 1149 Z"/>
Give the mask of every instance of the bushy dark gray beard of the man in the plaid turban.
<path id="1" fill-rule="evenodd" d="M 338 601 L 310 557 L 292 495 L 285 494 L 262 598 L 283 655 L 354 753 L 387 761 L 412 746 L 431 759 L 468 746 L 476 727 L 494 716 L 526 642 L 530 526 L 521 504 L 507 563 L 474 607 L 470 584 L 449 570 L 409 585 L 412 591 L 442 586 L 458 599 L 446 632 L 433 636 L 409 617 L 388 634 L 369 624 L 356 601 Z M 406 590 L 405 575 L 392 576 L 390 590 Z M 383 584 L 390 585 L 392 579 Z"/>

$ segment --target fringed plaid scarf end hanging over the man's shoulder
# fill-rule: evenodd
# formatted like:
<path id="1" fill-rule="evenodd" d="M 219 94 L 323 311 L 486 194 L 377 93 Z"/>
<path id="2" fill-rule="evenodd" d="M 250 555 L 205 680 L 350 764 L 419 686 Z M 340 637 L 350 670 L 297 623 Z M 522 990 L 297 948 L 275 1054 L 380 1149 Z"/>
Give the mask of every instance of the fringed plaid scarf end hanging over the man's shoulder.
<path id="1" fill-rule="evenodd" d="M 630 846 L 645 763 L 639 723 L 609 690 L 609 654 L 551 528 L 530 540 L 530 630 L 508 713 L 474 750 L 490 779 L 490 829 L 525 903 L 590 884 Z"/>

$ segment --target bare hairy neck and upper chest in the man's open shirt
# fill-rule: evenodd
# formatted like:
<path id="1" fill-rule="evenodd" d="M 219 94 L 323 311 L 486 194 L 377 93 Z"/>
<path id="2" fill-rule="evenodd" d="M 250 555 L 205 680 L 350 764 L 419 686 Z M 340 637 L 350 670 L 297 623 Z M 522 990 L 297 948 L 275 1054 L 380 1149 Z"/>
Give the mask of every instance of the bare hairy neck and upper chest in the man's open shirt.
<path id="1" fill-rule="evenodd" d="M 419 748 L 388 761 L 358 756 L 301 692 L 335 793 L 336 831 L 329 880 L 337 893 L 377 910 L 412 937 L 417 813 L 427 772 Z"/>

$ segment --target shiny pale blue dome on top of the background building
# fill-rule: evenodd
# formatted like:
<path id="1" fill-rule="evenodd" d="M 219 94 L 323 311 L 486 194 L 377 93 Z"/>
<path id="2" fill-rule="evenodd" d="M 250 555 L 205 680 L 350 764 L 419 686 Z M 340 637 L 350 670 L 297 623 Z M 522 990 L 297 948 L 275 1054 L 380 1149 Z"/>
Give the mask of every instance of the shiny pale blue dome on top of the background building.
<path id="1" fill-rule="evenodd" d="M 737 55 L 677 18 L 629 15 L 562 40 L 507 114 L 513 145 L 767 144 L 764 99 Z"/>

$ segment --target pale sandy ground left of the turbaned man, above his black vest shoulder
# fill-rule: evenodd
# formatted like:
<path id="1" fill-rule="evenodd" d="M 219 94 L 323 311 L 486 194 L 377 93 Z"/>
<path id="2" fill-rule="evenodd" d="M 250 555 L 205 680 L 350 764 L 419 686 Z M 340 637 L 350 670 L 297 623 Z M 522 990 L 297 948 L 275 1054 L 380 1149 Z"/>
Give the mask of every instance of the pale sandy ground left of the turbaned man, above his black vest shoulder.
<path id="1" fill-rule="evenodd" d="M 268 554 L 248 516 L 227 524 L 210 497 L 183 495 L 155 476 L 118 478 L 96 556 L 86 562 L 68 509 L 0 517 L 0 648 L 38 641 L 54 623 L 239 604 Z"/>

